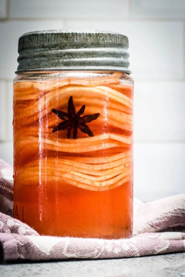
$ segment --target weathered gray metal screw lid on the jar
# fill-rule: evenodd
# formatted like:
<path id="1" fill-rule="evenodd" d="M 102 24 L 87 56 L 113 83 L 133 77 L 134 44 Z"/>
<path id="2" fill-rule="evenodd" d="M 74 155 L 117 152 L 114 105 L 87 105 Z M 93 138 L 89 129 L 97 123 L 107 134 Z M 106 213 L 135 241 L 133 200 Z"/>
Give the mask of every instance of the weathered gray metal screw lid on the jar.
<path id="1" fill-rule="evenodd" d="M 94 30 L 25 33 L 18 41 L 16 73 L 30 71 L 129 71 L 125 35 Z"/>

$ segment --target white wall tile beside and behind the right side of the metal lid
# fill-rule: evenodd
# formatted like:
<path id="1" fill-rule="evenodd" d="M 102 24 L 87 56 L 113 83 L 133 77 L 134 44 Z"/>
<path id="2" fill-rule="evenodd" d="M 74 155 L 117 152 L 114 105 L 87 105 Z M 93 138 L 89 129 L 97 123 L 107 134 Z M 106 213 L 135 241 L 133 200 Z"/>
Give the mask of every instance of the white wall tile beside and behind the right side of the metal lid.
<path id="1" fill-rule="evenodd" d="M 185 5 L 185 1 L 184 1 Z M 183 21 L 66 21 L 67 29 L 105 29 L 129 38 L 134 80 L 184 79 Z M 175 66 L 175 70 L 174 70 Z"/>

